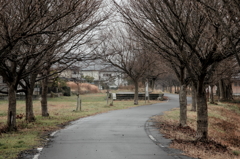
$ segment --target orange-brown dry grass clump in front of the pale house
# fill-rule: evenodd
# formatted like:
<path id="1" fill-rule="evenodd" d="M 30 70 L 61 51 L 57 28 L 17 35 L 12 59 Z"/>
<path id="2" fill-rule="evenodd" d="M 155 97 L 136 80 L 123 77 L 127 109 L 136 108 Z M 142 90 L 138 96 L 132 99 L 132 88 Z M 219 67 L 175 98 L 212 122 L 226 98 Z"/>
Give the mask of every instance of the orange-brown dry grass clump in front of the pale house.
<path id="1" fill-rule="evenodd" d="M 67 82 L 67 86 L 71 88 L 71 92 L 78 92 L 78 86 L 75 82 Z M 79 83 L 80 94 L 84 93 L 98 93 L 99 89 L 97 86 L 89 83 Z"/>

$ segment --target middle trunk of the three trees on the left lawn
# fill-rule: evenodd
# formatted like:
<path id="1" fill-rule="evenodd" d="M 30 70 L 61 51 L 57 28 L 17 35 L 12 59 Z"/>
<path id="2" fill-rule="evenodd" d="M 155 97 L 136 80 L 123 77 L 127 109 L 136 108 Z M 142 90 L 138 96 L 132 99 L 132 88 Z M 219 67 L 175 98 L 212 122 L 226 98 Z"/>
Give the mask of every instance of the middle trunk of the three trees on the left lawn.
<path id="1" fill-rule="evenodd" d="M 26 92 L 26 121 L 28 122 L 34 122 L 35 121 L 35 116 L 33 113 L 33 101 L 32 101 L 32 96 L 33 96 L 33 88 L 27 88 Z"/>

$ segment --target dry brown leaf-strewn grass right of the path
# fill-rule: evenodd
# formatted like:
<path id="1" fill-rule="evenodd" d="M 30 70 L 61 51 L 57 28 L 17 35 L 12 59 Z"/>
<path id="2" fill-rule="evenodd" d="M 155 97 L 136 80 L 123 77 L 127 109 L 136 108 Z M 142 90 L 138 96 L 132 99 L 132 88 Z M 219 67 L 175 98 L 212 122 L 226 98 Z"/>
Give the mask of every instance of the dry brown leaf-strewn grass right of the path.
<path id="1" fill-rule="evenodd" d="M 234 109 L 233 109 L 234 107 Z M 196 112 L 188 107 L 188 126 L 178 127 L 179 109 L 156 116 L 156 125 L 165 137 L 172 139 L 171 148 L 184 151 L 184 154 L 201 159 L 240 158 L 240 114 L 236 113 L 239 104 L 209 105 L 209 141 L 195 141 Z"/>

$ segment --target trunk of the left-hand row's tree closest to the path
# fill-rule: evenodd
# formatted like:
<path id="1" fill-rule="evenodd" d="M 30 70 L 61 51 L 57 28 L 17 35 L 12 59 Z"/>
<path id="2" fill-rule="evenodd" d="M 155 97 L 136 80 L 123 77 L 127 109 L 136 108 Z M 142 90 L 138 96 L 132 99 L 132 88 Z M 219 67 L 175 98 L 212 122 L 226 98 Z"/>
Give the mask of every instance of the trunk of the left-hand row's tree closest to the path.
<path id="1" fill-rule="evenodd" d="M 48 117 L 48 105 L 47 105 L 47 93 L 48 93 L 48 77 L 45 77 L 42 81 L 42 94 L 41 94 L 41 107 L 42 107 L 42 116 Z"/>

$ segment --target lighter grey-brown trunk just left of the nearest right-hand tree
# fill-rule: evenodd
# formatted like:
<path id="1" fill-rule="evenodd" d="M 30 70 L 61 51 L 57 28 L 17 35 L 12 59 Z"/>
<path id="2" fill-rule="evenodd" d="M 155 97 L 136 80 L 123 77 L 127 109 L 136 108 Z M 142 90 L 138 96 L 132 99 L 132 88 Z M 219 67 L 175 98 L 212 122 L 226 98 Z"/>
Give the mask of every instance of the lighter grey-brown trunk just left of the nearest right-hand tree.
<path id="1" fill-rule="evenodd" d="M 179 92 L 179 103 L 180 103 L 180 126 L 184 127 L 187 125 L 187 86 L 181 85 Z"/>

